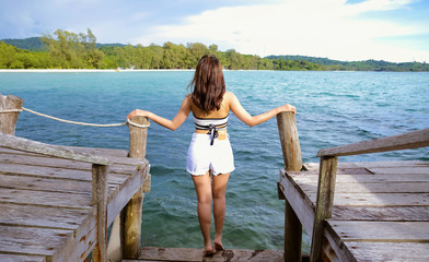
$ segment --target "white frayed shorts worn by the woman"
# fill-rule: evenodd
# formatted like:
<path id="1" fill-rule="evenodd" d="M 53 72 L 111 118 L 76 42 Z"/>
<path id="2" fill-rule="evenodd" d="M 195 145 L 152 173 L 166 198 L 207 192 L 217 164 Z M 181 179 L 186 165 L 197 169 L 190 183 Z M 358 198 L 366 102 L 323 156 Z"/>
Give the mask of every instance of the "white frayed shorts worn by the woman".
<path id="1" fill-rule="evenodd" d="M 213 145 L 210 145 L 210 134 L 193 134 L 186 163 L 186 170 L 190 175 L 201 176 L 210 170 L 217 176 L 235 169 L 229 135 L 225 140 L 216 139 Z"/>

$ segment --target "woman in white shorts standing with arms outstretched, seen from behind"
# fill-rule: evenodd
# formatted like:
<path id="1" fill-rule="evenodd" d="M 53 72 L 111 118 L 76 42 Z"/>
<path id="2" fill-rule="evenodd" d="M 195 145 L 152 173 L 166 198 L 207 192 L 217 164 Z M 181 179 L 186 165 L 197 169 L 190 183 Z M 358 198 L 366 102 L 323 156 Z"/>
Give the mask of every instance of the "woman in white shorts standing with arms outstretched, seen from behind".
<path id="1" fill-rule="evenodd" d="M 213 254 L 217 250 L 223 250 L 225 191 L 230 174 L 234 170 L 233 154 L 227 134 L 229 112 L 232 111 L 241 121 L 253 127 L 281 111 L 295 112 L 297 109 L 286 104 L 262 115 L 251 116 L 236 96 L 225 91 L 222 66 L 212 55 L 206 55 L 199 60 L 189 86 L 194 87 L 193 93 L 183 99 L 173 120 L 140 109 L 131 111 L 128 118 L 143 116 L 167 129 L 176 130 L 189 112 L 193 112 L 195 132 L 188 148 L 186 169 L 192 175 L 197 192 L 198 219 L 205 253 Z M 211 202 L 216 228 L 215 245 L 210 238 Z"/>

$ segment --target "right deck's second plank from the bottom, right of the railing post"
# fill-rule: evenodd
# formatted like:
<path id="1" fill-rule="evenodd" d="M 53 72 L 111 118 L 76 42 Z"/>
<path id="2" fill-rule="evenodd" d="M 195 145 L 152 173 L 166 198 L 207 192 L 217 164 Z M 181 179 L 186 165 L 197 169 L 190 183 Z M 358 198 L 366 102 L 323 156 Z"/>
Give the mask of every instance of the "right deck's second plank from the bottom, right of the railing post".
<path id="1" fill-rule="evenodd" d="M 327 221 L 328 230 L 343 241 L 429 242 L 429 222 Z M 334 236 L 334 234 L 331 234 Z M 429 252 L 429 250 L 428 250 Z"/>

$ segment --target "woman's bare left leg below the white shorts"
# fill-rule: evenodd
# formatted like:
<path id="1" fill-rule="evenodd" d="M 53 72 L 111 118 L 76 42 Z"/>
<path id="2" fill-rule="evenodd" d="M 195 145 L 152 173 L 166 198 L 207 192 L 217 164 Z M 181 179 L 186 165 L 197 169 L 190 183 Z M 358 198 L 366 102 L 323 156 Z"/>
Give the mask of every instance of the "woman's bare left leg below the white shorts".
<path id="1" fill-rule="evenodd" d="M 198 219 L 204 238 L 206 252 L 215 251 L 210 238 L 211 226 L 211 181 L 210 174 L 204 176 L 192 176 L 198 199 Z"/>

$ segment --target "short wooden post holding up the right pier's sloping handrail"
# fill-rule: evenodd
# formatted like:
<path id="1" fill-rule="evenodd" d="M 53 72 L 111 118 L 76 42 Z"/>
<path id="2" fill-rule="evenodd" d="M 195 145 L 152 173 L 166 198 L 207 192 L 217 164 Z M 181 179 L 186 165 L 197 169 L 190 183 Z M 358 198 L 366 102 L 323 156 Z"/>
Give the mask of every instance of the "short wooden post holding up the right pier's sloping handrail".
<path id="1" fill-rule="evenodd" d="M 335 156 L 321 157 L 318 174 L 317 200 L 313 236 L 311 245 L 311 262 L 322 261 L 323 223 L 332 216 L 337 174 L 338 158 Z"/>

